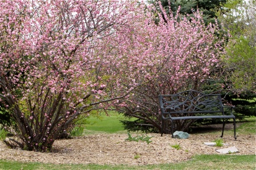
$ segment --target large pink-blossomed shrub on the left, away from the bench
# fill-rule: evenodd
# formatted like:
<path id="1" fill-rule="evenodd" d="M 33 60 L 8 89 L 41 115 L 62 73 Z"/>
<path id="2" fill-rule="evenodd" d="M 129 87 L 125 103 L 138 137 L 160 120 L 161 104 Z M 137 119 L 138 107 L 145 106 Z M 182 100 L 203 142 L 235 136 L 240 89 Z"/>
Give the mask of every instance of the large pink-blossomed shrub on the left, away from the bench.
<path id="1" fill-rule="evenodd" d="M 7 145 L 51 150 L 80 114 L 108 107 L 116 88 L 104 39 L 133 19 L 132 1 L 0 1 L 0 102 L 18 128 Z M 113 60 L 112 60 L 113 61 Z"/>

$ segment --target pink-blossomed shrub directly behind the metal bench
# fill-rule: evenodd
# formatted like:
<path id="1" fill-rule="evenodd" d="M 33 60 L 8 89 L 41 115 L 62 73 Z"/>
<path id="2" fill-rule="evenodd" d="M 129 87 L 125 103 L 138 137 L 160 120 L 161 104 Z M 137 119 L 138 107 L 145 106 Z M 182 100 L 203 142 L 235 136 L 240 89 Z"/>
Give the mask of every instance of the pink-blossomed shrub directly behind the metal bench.
<path id="1" fill-rule="evenodd" d="M 148 8 L 157 11 L 151 6 Z M 118 46 L 118 56 L 127 56 L 125 62 L 129 63 L 125 74 L 133 76 L 134 83 L 143 82 L 128 99 L 116 105 L 117 111 L 138 118 L 135 122 L 124 122 L 127 129 L 136 126 L 140 129 L 139 126 L 146 124 L 160 132 L 164 124 L 163 131 L 170 133 L 170 122 L 162 122 L 160 118 L 158 96 L 200 90 L 214 75 L 220 56 L 224 54 L 225 41 L 217 37 L 220 31 L 217 23 L 205 26 L 199 11 L 194 12 L 190 20 L 179 13 L 174 17 L 168 16 L 163 8 L 162 11 L 157 15 L 148 12 L 143 25 L 134 25 L 134 35 L 127 30 L 127 37 L 123 38 L 133 43 L 122 41 L 125 44 Z M 158 24 L 154 16 L 161 16 Z M 186 131 L 192 123 L 191 120 L 176 121 L 176 130 Z"/>

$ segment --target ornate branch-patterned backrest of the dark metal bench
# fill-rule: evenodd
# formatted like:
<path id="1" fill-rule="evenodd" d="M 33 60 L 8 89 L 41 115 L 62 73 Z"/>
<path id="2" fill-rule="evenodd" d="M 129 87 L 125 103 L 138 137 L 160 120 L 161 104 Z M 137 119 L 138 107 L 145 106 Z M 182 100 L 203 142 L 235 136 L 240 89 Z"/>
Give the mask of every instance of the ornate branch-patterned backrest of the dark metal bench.
<path id="1" fill-rule="evenodd" d="M 223 113 L 220 94 L 203 94 L 188 90 L 174 95 L 159 95 L 162 114 Z"/>

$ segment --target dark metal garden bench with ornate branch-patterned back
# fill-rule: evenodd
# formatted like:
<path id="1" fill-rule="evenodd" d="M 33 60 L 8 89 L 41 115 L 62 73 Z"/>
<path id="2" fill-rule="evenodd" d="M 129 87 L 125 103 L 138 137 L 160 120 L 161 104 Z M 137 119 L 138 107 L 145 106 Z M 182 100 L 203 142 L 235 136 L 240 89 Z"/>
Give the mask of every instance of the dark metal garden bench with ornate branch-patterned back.
<path id="1" fill-rule="evenodd" d="M 162 114 L 162 131 L 164 121 L 171 120 L 171 133 L 174 138 L 175 120 L 221 118 L 223 120 L 222 134 L 226 121 L 234 121 L 234 138 L 236 137 L 236 117 L 232 113 L 233 106 L 224 106 L 220 94 L 203 94 L 199 91 L 188 90 L 174 95 L 159 95 Z M 224 108 L 230 108 L 230 114 L 224 113 Z M 226 120 L 226 121 L 225 121 Z"/>

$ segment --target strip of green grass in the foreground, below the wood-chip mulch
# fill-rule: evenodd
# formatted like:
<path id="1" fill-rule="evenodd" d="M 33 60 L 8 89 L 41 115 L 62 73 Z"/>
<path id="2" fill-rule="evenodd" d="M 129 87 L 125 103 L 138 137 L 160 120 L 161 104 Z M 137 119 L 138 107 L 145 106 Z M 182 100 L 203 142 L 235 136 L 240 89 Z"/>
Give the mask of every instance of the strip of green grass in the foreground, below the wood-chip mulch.
<path id="1" fill-rule="evenodd" d="M 197 155 L 192 160 L 156 165 L 44 164 L 0 160 L 0 169 L 255 169 L 255 155 Z"/>

